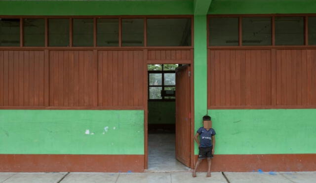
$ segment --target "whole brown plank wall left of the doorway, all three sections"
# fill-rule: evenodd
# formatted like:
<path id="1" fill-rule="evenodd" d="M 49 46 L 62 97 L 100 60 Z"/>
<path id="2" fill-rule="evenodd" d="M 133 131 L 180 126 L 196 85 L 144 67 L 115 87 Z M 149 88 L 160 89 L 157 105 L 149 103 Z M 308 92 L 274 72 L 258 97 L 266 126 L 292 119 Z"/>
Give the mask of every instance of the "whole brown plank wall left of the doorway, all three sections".
<path id="1" fill-rule="evenodd" d="M 0 50 L 1 109 L 142 109 L 143 50 Z"/>

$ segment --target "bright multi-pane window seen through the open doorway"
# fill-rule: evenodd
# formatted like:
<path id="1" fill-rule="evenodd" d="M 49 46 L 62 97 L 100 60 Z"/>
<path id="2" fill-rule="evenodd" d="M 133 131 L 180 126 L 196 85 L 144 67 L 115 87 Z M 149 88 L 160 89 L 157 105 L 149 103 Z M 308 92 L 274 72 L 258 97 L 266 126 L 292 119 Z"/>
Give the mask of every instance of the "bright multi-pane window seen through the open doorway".
<path id="1" fill-rule="evenodd" d="M 161 91 L 175 91 L 177 64 L 148 65 L 149 100 L 174 100 L 174 96 L 161 96 Z M 167 92 L 165 92 L 167 93 Z M 169 92 L 170 93 L 170 92 Z M 172 93 L 172 92 L 171 92 Z"/>

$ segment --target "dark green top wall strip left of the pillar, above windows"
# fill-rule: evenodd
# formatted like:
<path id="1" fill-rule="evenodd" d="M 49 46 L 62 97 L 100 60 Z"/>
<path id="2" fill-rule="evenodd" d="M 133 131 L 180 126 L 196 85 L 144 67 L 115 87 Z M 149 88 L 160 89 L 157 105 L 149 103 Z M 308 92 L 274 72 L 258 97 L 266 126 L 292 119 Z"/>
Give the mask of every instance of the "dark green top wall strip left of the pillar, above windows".
<path id="1" fill-rule="evenodd" d="M 183 15 L 193 0 L 2 0 L 0 15 Z"/>

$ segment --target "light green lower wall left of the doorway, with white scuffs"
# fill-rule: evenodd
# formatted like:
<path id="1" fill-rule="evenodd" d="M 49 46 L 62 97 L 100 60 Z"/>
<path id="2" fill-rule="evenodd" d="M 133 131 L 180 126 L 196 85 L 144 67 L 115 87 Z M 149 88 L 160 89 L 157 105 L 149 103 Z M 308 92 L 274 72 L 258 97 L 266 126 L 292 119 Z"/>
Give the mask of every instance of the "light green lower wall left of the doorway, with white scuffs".
<path id="1" fill-rule="evenodd" d="M 144 154 L 144 111 L 0 110 L 0 154 Z"/>

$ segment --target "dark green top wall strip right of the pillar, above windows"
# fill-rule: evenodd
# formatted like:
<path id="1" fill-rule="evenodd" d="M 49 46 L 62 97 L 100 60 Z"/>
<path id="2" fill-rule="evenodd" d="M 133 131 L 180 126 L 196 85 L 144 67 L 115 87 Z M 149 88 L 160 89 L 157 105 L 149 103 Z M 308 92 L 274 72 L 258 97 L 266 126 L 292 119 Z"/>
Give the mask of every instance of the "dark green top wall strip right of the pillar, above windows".
<path id="1" fill-rule="evenodd" d="M 316 13 L 316 0 L 212 0 L 208 14 Z"/>

